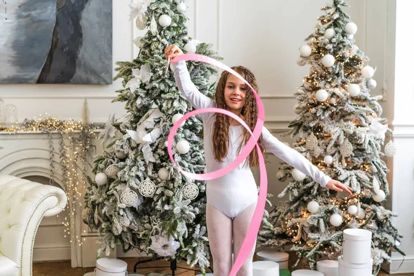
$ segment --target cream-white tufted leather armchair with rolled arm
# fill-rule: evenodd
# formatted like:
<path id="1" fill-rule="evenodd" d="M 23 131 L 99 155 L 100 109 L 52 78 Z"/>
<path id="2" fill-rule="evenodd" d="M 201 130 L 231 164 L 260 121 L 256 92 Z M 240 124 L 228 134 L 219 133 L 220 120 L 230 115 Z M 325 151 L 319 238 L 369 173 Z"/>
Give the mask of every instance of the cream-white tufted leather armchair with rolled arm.
<path id="1" fill-rule="evenodd" d="M 32 275 L 40 221 L 59 214 L 66 201 L 61 188 L 0 175 L 0 276 Z"/>

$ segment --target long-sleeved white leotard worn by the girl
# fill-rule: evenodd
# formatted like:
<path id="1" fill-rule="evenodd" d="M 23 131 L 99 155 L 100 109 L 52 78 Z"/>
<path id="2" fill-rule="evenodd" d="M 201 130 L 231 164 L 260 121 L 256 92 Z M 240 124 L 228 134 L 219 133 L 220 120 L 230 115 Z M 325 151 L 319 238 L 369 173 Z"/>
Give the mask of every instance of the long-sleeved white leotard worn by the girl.
<path id="1" fill-rule="evenodd" d="M 186 99 L 190 101 L 194 108 L 210 108 L 215 107 L 215 102 L 203 95 L 195 87 L 190 79 L 190 74 L 187 70 L 186 62 L 179 61 L 173 63 L 175 81 L 179 90 L 184 94 Z M 237 149 L 243 139 L 243 126 L 229 127 L 229 143 L 228 154 L 224 160 L 219 163 L 215 160 L 213 155 L 213 128 L 215 115 L 214 113 L 201 114 L 204 124 L 204 154 L 206 156 L 206 172 L 213 172 L 220 168 L 226 167 L 237 156 Z M 263 146 L 268 152 L 273 153 L 286 163 L 297 168 L 304 174 L 312 177 L 313 180 L 322 186 L 326 186 L 331 177 L 324 175 L 316 166 L 308 161 L 293 148 L 290 148 L 279 141 L 270 132 L 263 128 L 262 130 Z M 257 201 L 257 186 L 250 166 L 243 166 L 244 162 L 235 168 L 233 171 L 219 177 L 207 181 L 206 195 L 208 204 L 224 213 L 228 217 L 236 217 L 246 207 Z"/>

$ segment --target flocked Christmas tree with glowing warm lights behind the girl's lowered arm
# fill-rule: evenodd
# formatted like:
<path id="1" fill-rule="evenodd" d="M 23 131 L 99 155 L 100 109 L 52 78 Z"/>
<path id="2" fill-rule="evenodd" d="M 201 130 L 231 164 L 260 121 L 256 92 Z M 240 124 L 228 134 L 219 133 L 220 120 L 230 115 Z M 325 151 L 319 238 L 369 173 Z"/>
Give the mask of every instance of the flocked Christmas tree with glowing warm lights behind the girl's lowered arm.
<path id="1" fill-rule="evenodd" d="M 323 8 L 315 32 L 300 48 L 300 66 L 310 72 L 295 93 L 297 118 L 285 135 L 299 136 L 295 150 L 301 152 L 326 175 L 351 186 L 354 194 L 343 197 L 322 188 L 311 177 L 282 164 L 277 177 L 293 177 L 280 201 L 259 233 L 262 246 L 292 246 L 299 257 L 315 268 L 317 259 L 337 257 L 342 246 L 342 230 L 364 228 L 373 233 L 374 272 L 389 261 L 391 249 L 401 236 L 393 225 L 396 215 L 382 206 L 389 195 L 385 157 L 395 154 L 392 141 L 381 151 L 386 119 L 381 118 L 382 96 L 370 95 L 376 82 L 375 69 L 354 44 L 357 26 L 343 10 L 342 0 Z M 402 253 L 403 254 L 403 253 Z"/>

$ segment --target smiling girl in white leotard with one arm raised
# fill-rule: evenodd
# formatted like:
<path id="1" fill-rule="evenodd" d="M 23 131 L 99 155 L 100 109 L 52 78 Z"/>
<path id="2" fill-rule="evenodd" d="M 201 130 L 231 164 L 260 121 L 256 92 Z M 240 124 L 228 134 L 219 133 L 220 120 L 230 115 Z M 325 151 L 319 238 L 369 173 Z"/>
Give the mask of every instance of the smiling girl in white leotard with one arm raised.
<path id="1" fill-rule="evenodd" d="M 183 55 L 176 45 L 164 50 L 168 59 Z M 172 63 L 175 81 L 194 108 L 224 108 L 239 115 L 253 130 L 257 121 L 257 103 L 253 92 L 237 77 L 224 71 L 215 92 L 215 99 L 201 94 L 190 79 L 185 61 Z M 255 76 L 242 66 L 232 68 L 242 75 L 257 91 Z M 221 114 L 201 114 L 204 124 L 204 153 L 206 172 L 224 168 L 233 161 L 250 138 L 250 134 L 233 118 Z M 324 175 L 317 167 L 296 150 L 289 148 L 263 128 L 259 138 L 262 152 L 266 149 L 286 163 L 313 178 L 322 186 L 351 195 L 351 188 Z M 257 186 L 250 167 L 258 166 L 257 149 L 248 160 L 232 172 L 207 181 L 206 220 L 210 250 L 213 255 L 215 276 L 227 276 L 233 266 L 232 253 L 237 257 L 246 236 L 257 203 Z M 253 275 L 253 249 L 249 259 L 237 275 Z"/>

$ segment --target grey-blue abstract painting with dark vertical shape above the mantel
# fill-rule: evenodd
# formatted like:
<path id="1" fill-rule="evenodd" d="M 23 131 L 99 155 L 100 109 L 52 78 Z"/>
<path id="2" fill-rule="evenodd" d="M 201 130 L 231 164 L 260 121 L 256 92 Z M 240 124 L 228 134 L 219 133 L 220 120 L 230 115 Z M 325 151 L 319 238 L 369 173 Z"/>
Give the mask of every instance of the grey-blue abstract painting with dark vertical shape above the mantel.
<path id="1" fill-rule="evenodd" d="M 112 0 L 0 0 L 0 83 L 112 83 Z"/>

